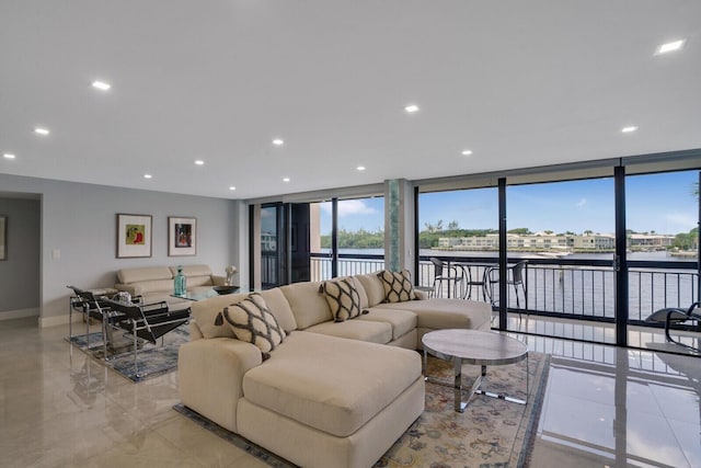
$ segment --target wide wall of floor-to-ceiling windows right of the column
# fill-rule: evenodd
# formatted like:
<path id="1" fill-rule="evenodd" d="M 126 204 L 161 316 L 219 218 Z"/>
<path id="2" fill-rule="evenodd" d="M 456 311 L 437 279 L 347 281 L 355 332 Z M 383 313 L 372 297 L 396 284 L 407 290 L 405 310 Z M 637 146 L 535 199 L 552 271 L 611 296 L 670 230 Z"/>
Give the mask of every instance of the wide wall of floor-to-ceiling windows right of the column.
<path id="1" fill-rule="evenodd" d="M 493 328 L 683 352 L 648 319 L 699 300 L 700 174 L 680 156 L 505 174 L 499 187 L 420 185 L 417 284 L 490 301 Z M 701 341 L 693 322 L 673 336 Z"/>

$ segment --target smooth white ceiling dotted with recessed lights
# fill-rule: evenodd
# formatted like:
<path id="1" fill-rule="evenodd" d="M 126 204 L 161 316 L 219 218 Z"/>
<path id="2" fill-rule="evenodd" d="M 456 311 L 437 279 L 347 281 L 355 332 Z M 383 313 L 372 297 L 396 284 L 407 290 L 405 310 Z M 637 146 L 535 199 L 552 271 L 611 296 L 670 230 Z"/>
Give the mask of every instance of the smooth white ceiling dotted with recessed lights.
<path id="1" fill-rule="evenodd" d="M 2 0 L 0 172 L 253 198 L 700 148 L 700 32 L 699 0 Z"/>

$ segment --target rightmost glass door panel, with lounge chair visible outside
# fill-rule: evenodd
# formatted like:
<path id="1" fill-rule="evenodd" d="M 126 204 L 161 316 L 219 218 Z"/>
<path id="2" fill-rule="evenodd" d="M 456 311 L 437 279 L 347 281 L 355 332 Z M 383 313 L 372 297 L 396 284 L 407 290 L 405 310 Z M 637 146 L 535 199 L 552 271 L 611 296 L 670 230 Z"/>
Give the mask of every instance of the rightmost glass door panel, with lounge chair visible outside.
<path id="1" fill-rule="evenodd" d="M 625 195 L 629 345 L 683 352 L 651 316 L 699 300 L 699 171 L 629 175 Z M 692 328 L 671 334 L 699 346 Z"/>

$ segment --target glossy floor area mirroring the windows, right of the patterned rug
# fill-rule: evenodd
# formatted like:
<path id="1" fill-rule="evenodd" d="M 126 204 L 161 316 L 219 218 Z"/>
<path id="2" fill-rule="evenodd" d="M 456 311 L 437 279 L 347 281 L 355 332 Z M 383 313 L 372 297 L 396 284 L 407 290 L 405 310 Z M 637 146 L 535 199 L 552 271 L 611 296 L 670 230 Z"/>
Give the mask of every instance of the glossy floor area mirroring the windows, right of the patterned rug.
<path id="1" fill-rule="evenodd" d="M 552 358 L 535 466 L 701 466 L 701 361 L 611 351 Z"/>

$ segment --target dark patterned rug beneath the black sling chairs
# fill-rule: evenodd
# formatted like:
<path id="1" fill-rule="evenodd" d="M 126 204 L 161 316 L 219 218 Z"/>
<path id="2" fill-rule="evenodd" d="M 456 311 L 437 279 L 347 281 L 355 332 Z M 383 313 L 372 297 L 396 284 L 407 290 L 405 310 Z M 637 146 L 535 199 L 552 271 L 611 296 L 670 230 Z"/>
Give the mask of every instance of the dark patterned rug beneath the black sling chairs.
<path id="1" fill-rule="evenodd" d="M 110 358 L 107 361 L 103 359 L 102 332 L 74 335 L 70 340 L 68 338 L 66 340 L 131 381 L 142 381 L 177 368 L 177 351 L 181 344 L 189 340 L 189 332 L 187 324 L 185 324 L 166 333 L 163 345 L 160 340 L 158 345 L 140 342 L 136 364 L 133 352 L 134 343 L 130 338 L 119 336 L 117 347 L 108 350 Z M 90 344 L 90 349 L 88 344 Z"/>

